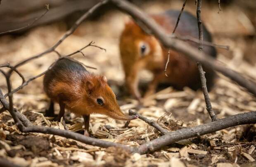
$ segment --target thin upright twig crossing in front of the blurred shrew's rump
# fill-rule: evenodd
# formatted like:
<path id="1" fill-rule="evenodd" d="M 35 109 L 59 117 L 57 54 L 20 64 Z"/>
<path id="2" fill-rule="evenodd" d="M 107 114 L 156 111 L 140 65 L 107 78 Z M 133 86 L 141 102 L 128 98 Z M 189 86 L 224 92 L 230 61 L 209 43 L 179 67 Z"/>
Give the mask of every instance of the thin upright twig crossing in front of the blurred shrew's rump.
<path id="1" fill-rule="evenodd" d="M 199 36 L 199 41 L 203 41 L 203 25 L 202 25 L 202 21 L 201 21 L 201 0 L 197 1 L 197 25 L 198 25 L 198 36 Z M 203 49 L 203 45 L 199 44 L 198 47 L 199 51 L 201 52 Z M 211 100 L 208 94 L 208 90 L 207 90 L 207 86 L 206 86 L 206 78 L 204 76 L 205 72 L 203 70 L 203 67 L 201 65 L 201 63 L 197 62 L 197 67 L 199 70 L 199 74 L 200 74 L 200 79 L 201 79 L 201 85 L 202 85 L 202 91 L 204 93 L 204 100 L 205 100 L 205 104 L 206 104 L 206 110 L 208 111 L 210 117 L 211 117 L 211 121 L 217 121 L 217 117 L 211 107 Z"/>

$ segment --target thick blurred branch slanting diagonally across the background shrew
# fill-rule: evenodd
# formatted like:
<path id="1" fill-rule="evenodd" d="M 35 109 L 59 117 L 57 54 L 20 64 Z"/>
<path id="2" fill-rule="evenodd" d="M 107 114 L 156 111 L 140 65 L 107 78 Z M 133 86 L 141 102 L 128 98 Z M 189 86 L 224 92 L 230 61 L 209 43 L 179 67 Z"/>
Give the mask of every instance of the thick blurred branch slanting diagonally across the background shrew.
<path id="1" fill-rule="evenodd" d="M 157 39 L 159 39 L 161 44 L 163 44 L 163 46 L 166 48 L 170 48 L 183 53 L 188 58 L 196 62 L 200 62 L 202 65 L 224 74 L 226 77 L 229 77 L 233 81 L 237 82 L 237 84 L 246 88 L 250 93 L 256 96 L 256 83 L 254 81 L 248 80 L 243 77 L 242 74 L 239 74 L 238 72 L 225 67 L 223 63 L 220 63 L 204 52 L 199 52 L 198 49 L 195 49 L 193 46 L 190 46 L 186 42 L 169 38 L 166 36 L 165 30 L 163 30 L 161 26 L 155 23 L 152 18 L 150 18 L 147 14 L 142 12 L 141 9 L 131 4 L 130 2 L 126 0 L 111 0 L 111 2 L 116 5 L 116 7 L 130 14 L 133 18 L 137 18 L 137 20 L 140 20 L 141 23 L 151 29 L 152 34 Z"/>

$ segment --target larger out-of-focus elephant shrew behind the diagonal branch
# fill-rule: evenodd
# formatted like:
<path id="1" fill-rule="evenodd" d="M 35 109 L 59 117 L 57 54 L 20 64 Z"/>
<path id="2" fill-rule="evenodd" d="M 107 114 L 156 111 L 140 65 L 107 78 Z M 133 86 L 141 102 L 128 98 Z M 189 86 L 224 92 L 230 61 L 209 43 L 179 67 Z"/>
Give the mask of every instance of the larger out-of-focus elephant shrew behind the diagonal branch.
<path id="1" fill-rule="evenodd" d="M 180 11 L 168 10 L 161 14 L 149 16 L 156 21 L 165 31 L 171 35 L 174 30 Z M 197 18 L 188 12 L 183 12 L 180 17 L 175 34 L 198 38 Z M 204 41 L 211 42 L 211 34 L 203 25 Z M 198 48 L 198 44 L 188 42 Z M 149 70 L 154 74 L 154 79 L 148 86 L 145 96 L 156 91 L 159 83 L 171 84 L 174 88 L 182 89 L 185 86 L 197 90 L 201 87 L 200 75 L 197 63 L 187 58 L 183 53 L 171 50 L 170 62 L 167 67 L 168 77 L 164 69 L 168 58 L 168 48 L 165 48 L 153 35 L 148 35 L 134 21 L 128 21 L 120 37 L 120 53 L 123 69 L 125 72 L 126 85 L 130 94 L 141 98 L 138 90 L 138 73 L 142 69 Z M 212 46 L 204 46 L 203 51 L 216 58 L 216 49 Z M 207 87 L 213 85 L 215 72 L 208 67 L 203 67 L 206 72 Z"/>

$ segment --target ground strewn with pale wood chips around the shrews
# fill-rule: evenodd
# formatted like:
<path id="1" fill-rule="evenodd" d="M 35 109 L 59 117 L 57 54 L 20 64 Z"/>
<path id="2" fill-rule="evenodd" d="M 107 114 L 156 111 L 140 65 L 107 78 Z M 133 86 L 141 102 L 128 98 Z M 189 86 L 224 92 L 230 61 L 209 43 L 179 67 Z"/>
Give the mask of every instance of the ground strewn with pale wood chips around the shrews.
<path id="1" fill-rule="evenodd" d="M 218 60 L 256 81 L 256 15 L 247 10 L 246 4 L 239 5 L 239 2 L 238 0 L 223 5 L 221 14 L 218 14 L 218 3 L 203 4 L 202 19 L 212 32 L 215 43 L 230 46 L 229 51 L 218 49 Z M 180 1 L 149 1 L 142 4 L 142 9 L 150 13 L 181 7 Z M 187 2 L 185 10 L 195 14 L 194 1 Z M 128 109 L 138 109 L 138 102 L 124 93 L 124 74 L 119 58 L 119 35 L 128 18 L 129 16 L 119 11 L 109 11 L 96 20 L 83 23 L 57 48 L 59 53 L 66 55 L 94 41 L 98 46 L 107 49 L 107 52 L 104 52 L 89 47 L 84 51 L 85 57 L 76 54 L 73 58 L 97 68 L 88 69 L 90 72 L 104 74 L 108 78 L 109 84 L 117 94 L 121 109 L 126 113 Z M 0 64 L 16 64 L 24 58 L 45 51 L 55 44 L 66 30 L 66 23 L 60 21 L 34 28 L 20 36 L 0 37 Z M 55 59 L 57 54 L 49 53 L 19 67 L 19 70 L 29 78 L 46 70 Z M 140 78 L 143 83 L 147 83 L 152 79 L 152 74 L 143 71 Z M 35 125 L 50 124 L 51 127 L 64 129 L 62 123 L 52 121 L 51 118 L 46 117 L 47 123 L 44 120 L 42 114 L 48 107 L 49 99 L 43 92 L 42 83 L 43 77 L 40 77 L 15 93 L 14 106 Z M 14 74 L 13 88 L 20 84 L 21 79 Z M 4 93 L 7 92 L 3 77 L 0 79 L 0 88 Z M 256 111 L 256 98 L 221 74 L 218 74 L 216 84 L 209 95 L 218 118 Z M 55 111 L 58 112 L 59 108 L 55 106 Z M 210 121 L 202 92 L 190 88 L 177 91 L 168 86 L 161 86 L 158 93 L 149 97 L 138 112 L 170 131 Z M 82 117 L 66 112 L 64 120 L 69 130 L 83 134 Z M 93 137 L 106 141 L 138 146 L 160 136 L 159 132 L 139 119 L 131 121 L 128 128 L 123 128 L 124 124 L 125 121 L 96 114 L 90 119 Z M 256 159 L 256 125 L 236 126 L 175 142 L 154 153 L 131 155 L 119 148 L 99 148 L 54 135 L 21 133 L 10 114 L 5 111 L 0 114 L 0 138 L 0 157 L 24 167 L 256 166 L 255 161 L 252 162 Z"/>

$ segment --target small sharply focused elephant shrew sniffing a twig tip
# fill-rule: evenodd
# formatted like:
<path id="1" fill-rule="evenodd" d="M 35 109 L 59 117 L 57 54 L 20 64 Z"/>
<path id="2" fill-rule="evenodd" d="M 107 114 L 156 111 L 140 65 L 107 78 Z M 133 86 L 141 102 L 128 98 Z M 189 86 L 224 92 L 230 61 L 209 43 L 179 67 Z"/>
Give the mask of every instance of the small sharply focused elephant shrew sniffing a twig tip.
<path id="1" fill-rule="evenodd" d="M 54 102 L 57 102 L 60 107 L 57 121 L 64 116 L 65 108 L 82 115 L 86 136 L 89 136 L 92 113 L 127 121 L 138 118 L 137 115 L 123 114 L 105 76 L 90 73 L 83 65 L 68 58 L 62 58 L 53 65 L 45 74 L 43 84 L 45 93 L 51 99 L 46 116 L 54 116 Z"/>

